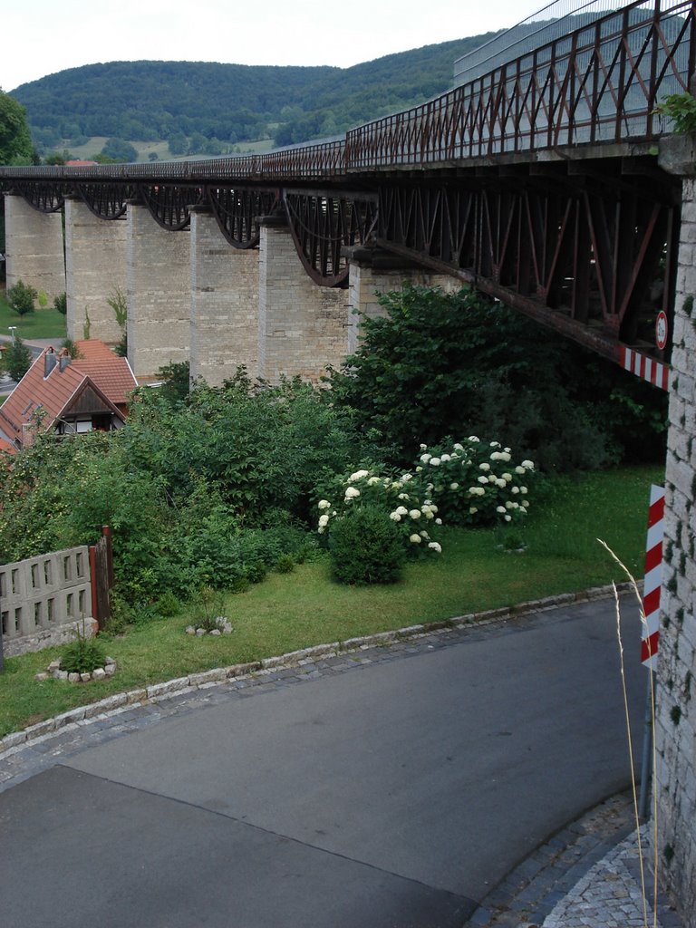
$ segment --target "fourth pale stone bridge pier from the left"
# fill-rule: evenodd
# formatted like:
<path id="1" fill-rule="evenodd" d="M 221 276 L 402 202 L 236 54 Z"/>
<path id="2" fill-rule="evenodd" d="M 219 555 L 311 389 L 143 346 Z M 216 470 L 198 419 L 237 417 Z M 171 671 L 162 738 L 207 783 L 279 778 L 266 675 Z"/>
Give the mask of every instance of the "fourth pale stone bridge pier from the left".
<path id="1" fill-rule="evenodd" d="M 259 251 L 226 242 L 208 206 L 191 207 L 191 380 L 212 387 L 243 365 L 259 374 Z"/>

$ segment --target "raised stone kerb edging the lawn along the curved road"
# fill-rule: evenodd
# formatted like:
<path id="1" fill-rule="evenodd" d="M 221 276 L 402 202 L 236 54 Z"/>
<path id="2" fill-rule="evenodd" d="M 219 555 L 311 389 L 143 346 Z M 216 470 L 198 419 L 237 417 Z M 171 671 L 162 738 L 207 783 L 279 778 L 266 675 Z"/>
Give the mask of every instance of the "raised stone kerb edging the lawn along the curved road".
<path id="1" fill-rule="evenodd" d="M 627 583 L 616 585 L 619 594 L 624 594 L 629 589 L 630 585 Z M 161 702 L 161 700 L 166 700 L 174 695 L 179 696 L 194 690 L 207 689 L 224 683 L 226 680 L 244 679 L 246 677 L 270 677 L 277 670 L 303 667 L 314 664 L 316 660 L 350 654 L 354 651 L 367 651 L 371 648 L 390 646 L 408 639 L 437 635 L 456 629 L 466 629 L 471 626 L 480 627 L 492 623 L 502 624 L 509 619 L 536 612 L 545 612 L 558 606 L 586 602 L 592 599 L 606 599 L 613 595 L 613 590 L 613 586 L 598 586 L 581 593 L 561 593 L 558 596 L 548 596 L 544 599 L 522 602 L 501 609 L 472 612 L 469 615 L 460 615 L 441 622 L 408 625 L 405 628 L 378 632 L 375 635 L 348 638 L 345 641 L 333 641 L 330 644 L 319 644 L 312 648 L 304 648 L 302 651 L 290 651 L 290 653 L 280 654 L 277 657 L 266 657 L 262 661 L 254 661 L 251 664 L 232 664 L 228 667 L 217 667 L 213 670 L 190 674 L 188 677 L 178 677 L 137 690 L 117 693 L 99 702 L 71 709 L 61 715 L 47 718 L 45 721 L 29 728 L 6 735 L 5 738 L 0 740 L 0 761 L 10 754 L 16 754 L 26 747 L 31 747 L 37 742 L 54 736 L 61 729 L 74 728 L 78 725 L 84 726 L 92 720 L 101 720 L 110 715 L 122 713 L 129 708 Z"/>

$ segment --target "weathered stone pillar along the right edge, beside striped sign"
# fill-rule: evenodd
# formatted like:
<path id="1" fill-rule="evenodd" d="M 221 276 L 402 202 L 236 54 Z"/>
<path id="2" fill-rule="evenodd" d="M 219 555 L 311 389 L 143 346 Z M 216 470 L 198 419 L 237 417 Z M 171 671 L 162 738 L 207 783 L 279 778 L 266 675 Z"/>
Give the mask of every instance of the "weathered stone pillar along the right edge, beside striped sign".
<path id="1" fill-rule="evenodd" d="M 696 928 L 696 135 L 660 143 L 682 174 L 665 473 L 664 563 L 655 741 L 661 880 Z"/>

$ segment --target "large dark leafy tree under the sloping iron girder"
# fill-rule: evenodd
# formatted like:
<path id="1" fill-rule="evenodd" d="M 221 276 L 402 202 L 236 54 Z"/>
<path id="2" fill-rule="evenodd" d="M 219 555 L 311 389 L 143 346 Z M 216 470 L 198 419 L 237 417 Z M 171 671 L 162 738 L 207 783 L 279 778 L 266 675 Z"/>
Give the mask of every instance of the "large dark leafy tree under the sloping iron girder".
<path id="1" fill-rule="evenodd" d="M 406 285 L 380 303 L 387 316 L 363 320 L 357 352 L 330 373 L 330 397 L 401 462 L 421 442 L 472 432 L 546 470 L 663 454 L 661 391 L 522 314 L 473 290 Z"/>

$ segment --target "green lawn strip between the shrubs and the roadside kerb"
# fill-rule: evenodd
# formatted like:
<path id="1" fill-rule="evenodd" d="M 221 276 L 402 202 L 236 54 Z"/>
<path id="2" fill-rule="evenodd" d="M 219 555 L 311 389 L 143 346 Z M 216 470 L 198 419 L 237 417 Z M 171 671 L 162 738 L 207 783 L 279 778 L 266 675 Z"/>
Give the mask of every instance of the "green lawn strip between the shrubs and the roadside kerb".
<path id="1" fill-rule="evenodd" d="M 33 679 L 58 649 L 8 658 L 0 674 L 0 736 L 111 693 L 195 671 L 623 582 L 625 576 L 597 538 L 640 578 L 650 484 L 663 480 L 664 470 L 653 467 L 549 482 L 536 503 L 533 498 L 524 553 L 498 548 L 494 530 L 451 529 L 442 539 L 440 558 L 409 564 L 403 580 L 393 586 L 335 584 L 324 558 L 299 565 L 291 574 L 270 574 L 248 592 L 227 597 L 232 635 L 187 636 L 191 615 L 185 610 L 132 626 L 118 637 L 104 636 L 119 670 L 88 686 Z"/>

